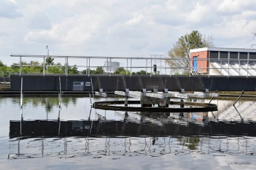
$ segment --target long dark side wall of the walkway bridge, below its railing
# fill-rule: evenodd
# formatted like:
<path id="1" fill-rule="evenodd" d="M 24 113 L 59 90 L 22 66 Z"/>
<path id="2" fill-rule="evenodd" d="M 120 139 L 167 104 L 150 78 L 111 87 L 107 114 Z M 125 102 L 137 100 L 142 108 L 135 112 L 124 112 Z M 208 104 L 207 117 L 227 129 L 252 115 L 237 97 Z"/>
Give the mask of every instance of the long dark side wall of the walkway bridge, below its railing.
<path id="1" fill-rule="evenodd" d="M 92 86 L 85 86 L 90 82 L 94 91 L 123 91 L 130 89 L 140 91 L 143 88 L 152 90 L 157 86 L 159 91 L 256 91 L 256 76 L 106 76 L 106 75 L 23 75 L 23 91 L 59 91 L 59 77 L 61 91 L 73 91 L 73 82 L 84 82 L 83 91 L 91 91 Z M 11 91 L 20 91 L 21 76 L 11 75 Z"/>

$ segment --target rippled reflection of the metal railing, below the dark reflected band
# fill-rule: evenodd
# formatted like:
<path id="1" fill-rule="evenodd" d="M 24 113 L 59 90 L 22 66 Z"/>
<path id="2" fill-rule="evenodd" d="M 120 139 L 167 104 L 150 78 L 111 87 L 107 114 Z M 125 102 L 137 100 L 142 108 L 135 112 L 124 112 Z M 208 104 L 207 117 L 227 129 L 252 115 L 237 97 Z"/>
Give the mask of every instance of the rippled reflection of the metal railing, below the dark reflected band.
<path id="1" fill-rule="evenodd" d="M 255 137 L 63 137 L 9 141 L 8 159 L 106 156 L 253 156 Z M 17 146 L 18 143 L 18 146 Z"/>

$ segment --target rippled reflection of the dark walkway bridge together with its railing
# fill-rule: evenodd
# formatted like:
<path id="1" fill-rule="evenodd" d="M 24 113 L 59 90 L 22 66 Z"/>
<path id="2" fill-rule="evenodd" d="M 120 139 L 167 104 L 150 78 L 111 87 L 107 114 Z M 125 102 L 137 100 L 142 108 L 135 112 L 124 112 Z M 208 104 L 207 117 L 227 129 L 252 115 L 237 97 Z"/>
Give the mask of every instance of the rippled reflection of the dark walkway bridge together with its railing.
<path id="1" fill-rule="evenodd" d="M 99 116 L 98 120 L 83 121 L 10 121 L 13 153 L 8 159 L 256 154 L 255 122 L 198 123 L 209 119 L 193 122 L 192 114 L 174 118 L 170 113 L 141 113 L 142 120 L 137 121 L 127 112 L 123 120 L 106 120 Z M 205 113 L 201 115 L 206 116 Z M 17 142 L 18 150 L 15 151 Z"/>

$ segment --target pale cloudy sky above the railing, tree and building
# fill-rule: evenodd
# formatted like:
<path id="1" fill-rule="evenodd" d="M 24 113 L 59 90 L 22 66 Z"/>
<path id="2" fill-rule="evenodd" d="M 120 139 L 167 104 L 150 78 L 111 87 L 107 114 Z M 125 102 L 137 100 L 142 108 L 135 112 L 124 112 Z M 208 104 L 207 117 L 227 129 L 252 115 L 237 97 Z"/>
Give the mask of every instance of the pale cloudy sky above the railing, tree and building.
<path id="1" fill-rule="evenodd" d="M 10 54 L 166 55 L 198 30 L 216 47 L 256 44 L 255 0 L 0 0 L 0 60 Z"/>

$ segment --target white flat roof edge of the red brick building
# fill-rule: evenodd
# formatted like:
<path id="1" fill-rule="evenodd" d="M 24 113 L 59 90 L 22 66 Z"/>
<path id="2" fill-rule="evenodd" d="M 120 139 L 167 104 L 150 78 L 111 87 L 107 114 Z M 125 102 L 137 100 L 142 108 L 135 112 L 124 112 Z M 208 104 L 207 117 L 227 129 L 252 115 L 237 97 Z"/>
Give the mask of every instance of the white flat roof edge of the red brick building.
<path id="1" fill-rule="evenodd" d="M 249 48 L 217 48 L 217 47 L 204 47 L 190 50 L 190 52 L 204 52 L 204 51 L 218 51 L 218 52 L 256 52 L 256 49 Z"/>

